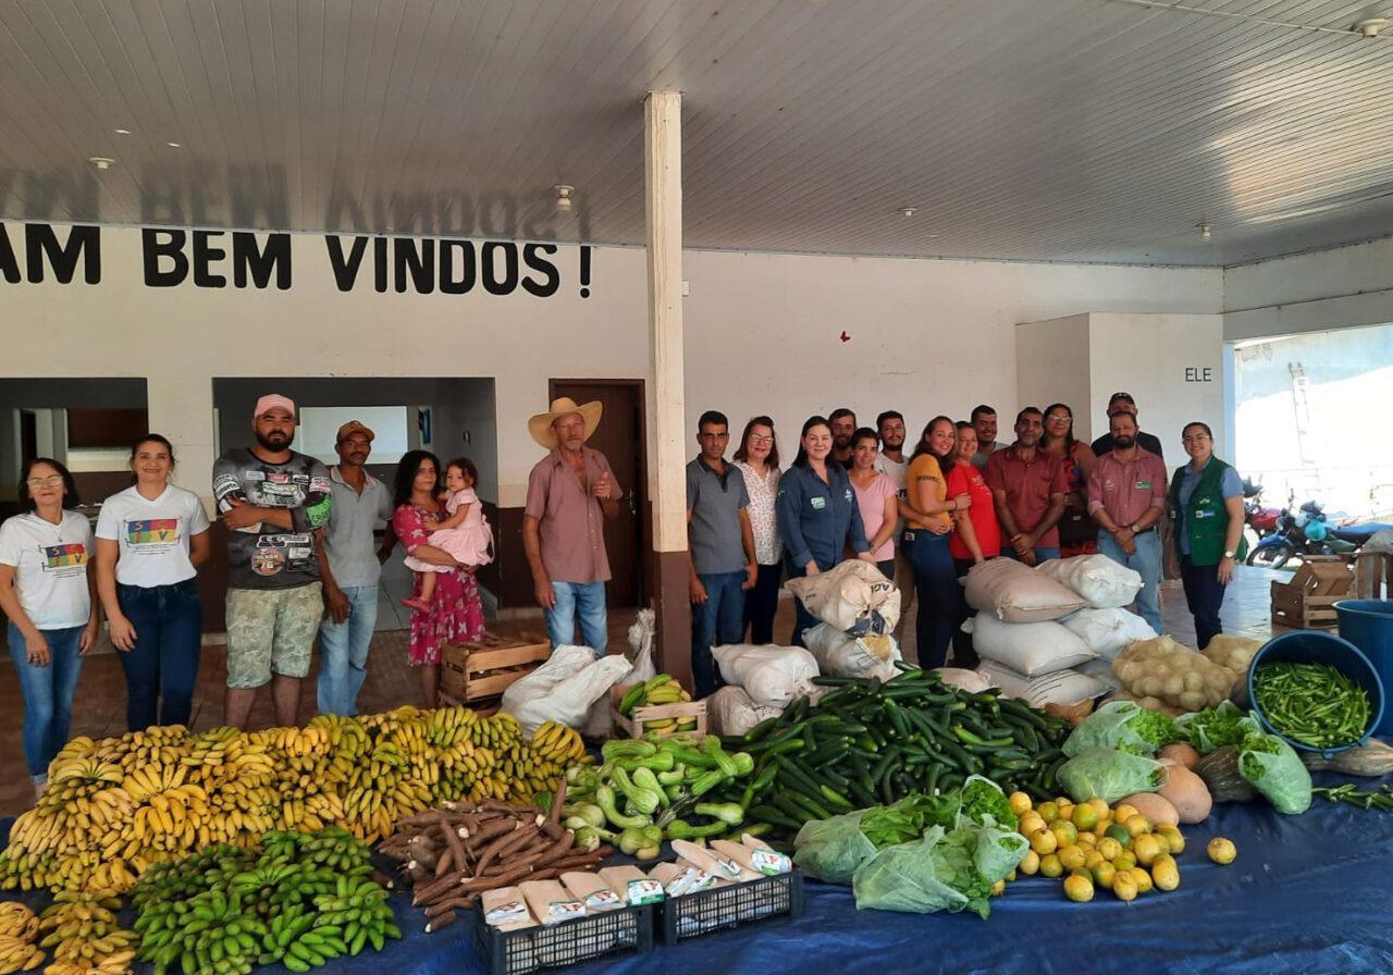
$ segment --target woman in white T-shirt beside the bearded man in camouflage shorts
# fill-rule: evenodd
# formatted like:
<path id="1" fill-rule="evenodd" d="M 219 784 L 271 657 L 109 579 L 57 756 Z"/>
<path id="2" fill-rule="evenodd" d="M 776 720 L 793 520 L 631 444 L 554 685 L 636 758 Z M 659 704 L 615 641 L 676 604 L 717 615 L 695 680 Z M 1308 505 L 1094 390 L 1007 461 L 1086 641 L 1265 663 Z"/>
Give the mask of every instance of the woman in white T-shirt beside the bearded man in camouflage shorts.
<path id="1" fill-rule="evenodd" d="M 102 504 L 96 582 L 111 644 L 125 670 L 125 726 L 188 724 L 203 638 L 198 566 L 208 560 L 208 514 L 171 485 L 174 447 L 148 433 L 131 447 L 135 483 Z"/>

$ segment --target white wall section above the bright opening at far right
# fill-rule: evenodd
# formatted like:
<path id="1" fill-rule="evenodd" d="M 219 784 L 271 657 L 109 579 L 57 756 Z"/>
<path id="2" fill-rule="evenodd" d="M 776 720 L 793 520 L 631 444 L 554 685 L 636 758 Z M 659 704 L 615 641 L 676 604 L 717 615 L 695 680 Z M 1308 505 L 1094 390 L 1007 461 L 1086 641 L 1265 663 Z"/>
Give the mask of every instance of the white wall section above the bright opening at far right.
<path id="1" fill-rule="evenodd" d="M 1393 322 L 1393 240 L 1276 258 L 1223 274 L 1224 338 Z"/>

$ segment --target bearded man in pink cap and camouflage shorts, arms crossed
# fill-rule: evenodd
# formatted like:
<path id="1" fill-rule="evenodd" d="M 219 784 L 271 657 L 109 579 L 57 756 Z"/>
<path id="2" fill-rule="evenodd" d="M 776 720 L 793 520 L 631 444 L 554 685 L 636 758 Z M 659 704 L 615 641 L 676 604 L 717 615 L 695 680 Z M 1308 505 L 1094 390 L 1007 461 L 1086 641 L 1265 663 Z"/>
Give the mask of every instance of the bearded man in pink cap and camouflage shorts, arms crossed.
<path id="1" fill-rule="evenodd" d="M 316 535 L 333 507 L 329 469 L 290 448 L 290 398 L 259 398 L 252 430 L 254 447 L 228 450 L 213 465 L 213 497 L 230 531 L 224 722 L 240 728 L 267 682 L 276 723 L 299 723 L 299 681 L 325 611 Z"/>

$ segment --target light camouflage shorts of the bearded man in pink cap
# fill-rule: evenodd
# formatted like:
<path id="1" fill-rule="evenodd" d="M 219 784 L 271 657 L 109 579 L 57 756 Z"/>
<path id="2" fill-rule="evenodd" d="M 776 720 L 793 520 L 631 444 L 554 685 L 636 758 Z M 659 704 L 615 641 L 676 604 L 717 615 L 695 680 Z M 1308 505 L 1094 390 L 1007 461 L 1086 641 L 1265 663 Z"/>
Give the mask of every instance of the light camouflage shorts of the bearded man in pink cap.
<path id="1" fill-rule="evenodd" d="M 260 687 L 272 671 L 308 674 L 323 613 L 319 582 L 294 589 L 228 589 L 227 687 Z"/>

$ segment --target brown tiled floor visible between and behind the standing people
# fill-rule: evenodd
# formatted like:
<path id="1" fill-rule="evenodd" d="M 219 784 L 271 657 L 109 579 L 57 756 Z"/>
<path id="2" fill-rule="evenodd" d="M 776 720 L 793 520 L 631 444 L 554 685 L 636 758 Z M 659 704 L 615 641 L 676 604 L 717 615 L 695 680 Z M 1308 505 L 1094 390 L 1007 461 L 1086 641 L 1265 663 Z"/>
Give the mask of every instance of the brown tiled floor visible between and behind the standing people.
<path id="1" fill-rule="evenodd" d="M 1234 634 L 1266 638 L 1272 628 L 1268 613 L 1268 592 L 1272 578 L 1289 575 L 1268 570 L 1243 568 L 1229 591 L 1223 606 L 1224 630 Z M 365 713 L 386 710 L 400 703 L 421 699 L 417 677 L 405 664 L 407 614 L 397 614 L 397 599 L 410 588 L 410 577 L 389 572 L 387 595 L 379 607 L 380 625 L 373 638 L 372 655 L 368 660 L 368 680 L 364 684 L 358 703 Z M 1185 610 L 1185 598 L 1180 584 L 1167 584 L 1162 592 L 1162 611 L 1166 628 L 1181 644 L 1194 645 L 1194 624 Z M 912 616 L 912 614 L 911 614 Z M 634 611 L 610 614 L 610 649 L 627 645 L 627 631 L 634 621 Z M 527 623 L 499 623 L 492 627 L 497 632 L 538 631 L 540 620 Z M 793 602 L 780 603 L 776 637 L 786 638 L 793 631 Z M 905 627 L 904 642 L 914 646 L 914 620 Z M 311 670 L 311 674 L 315 671 Z M 203 662 L 198 676 L 192 727 L 196 730 L 217 727 L 223 722 L 223 688 L 227 677 L 226 650 L 221 646 L 203 649 Z M 315 684 L 309 678 L 301 688 L 301 719 L 315 712 Z M 20 741 L 20 727 L 24 716 L 24 702 L 14 680 L 8 656 L 0 664 L 0 815 L 15 815 L 33 802 L 29 776 L 24 765 Z M 254 727 L 272 724 L 270 696 L 263 691 L 252 712 Z M 84 663 L 82 681 L 74 702 L 72 734 L 104 737 L 125 731 L 125 678 L 114 652 L 93 653 Z"/>

